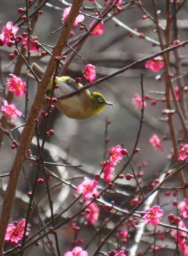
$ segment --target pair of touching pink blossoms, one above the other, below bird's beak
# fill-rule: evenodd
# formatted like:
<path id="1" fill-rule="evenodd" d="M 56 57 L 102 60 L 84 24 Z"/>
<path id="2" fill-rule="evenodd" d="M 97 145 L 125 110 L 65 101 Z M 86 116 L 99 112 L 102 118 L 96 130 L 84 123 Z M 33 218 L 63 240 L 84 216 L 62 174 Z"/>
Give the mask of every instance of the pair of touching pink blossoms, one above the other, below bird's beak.
<path id="1" fill-rule="evenodd" d="M 115 165 L 122 160 L 124 155 L 127 154 L 126 149 L 122 149 L 120 145 L 113 147 L 110 149 L 110 161 L 105 161 L 102 163 L 103 165 L 103 172 L 104 172 L 104 181 L 105 182 L 110 182 L 113 179 L 113 174 L 115 170 Z"/>

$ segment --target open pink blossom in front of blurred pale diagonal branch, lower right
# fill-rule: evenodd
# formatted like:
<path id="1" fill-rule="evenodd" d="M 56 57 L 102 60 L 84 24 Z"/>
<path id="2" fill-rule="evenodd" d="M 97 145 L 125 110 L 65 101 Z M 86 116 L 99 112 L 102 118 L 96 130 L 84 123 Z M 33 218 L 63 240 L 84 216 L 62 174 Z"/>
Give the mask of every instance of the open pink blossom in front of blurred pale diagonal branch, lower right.
<path id="1" fill-rule="evenodd" d="M 151 209 L 145 211 L 145 217 L 143 223 L 148 223 L 152 226 L 155 226 L 160 223 L 161 217 L 164 212 L 160 209 L 160 206 L 153 206 Z"/>

